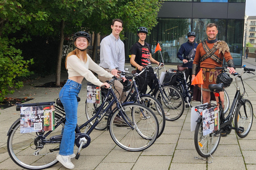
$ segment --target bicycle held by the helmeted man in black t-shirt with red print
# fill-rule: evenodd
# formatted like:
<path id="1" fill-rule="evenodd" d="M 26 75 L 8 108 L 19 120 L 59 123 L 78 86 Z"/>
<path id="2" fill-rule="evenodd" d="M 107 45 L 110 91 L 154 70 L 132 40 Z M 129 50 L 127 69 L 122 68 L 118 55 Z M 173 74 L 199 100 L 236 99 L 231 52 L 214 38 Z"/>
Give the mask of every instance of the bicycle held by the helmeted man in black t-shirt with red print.
<path id="1" fill-rule="evenodd" d="M 162 65 L 163 64 L 161 63 L 159 66 L 153 68 L 155 70 L 155 80 L 153 87 L 148 94 L 154 96 L 163 106 L 164 112 L 170 114 L 169 116 L 165 115 L 165 119 L 167 121 L 175 121 L 182 116 L 185 108 L 185 102 L 181 92 L 176 87 L 171 86 L 168 83 L 160 82 L 158 75 L 159 70 L 162 69 Z M 147 70 L 149 67 L 152 66 L 148 65 L 142 71 Z"/>

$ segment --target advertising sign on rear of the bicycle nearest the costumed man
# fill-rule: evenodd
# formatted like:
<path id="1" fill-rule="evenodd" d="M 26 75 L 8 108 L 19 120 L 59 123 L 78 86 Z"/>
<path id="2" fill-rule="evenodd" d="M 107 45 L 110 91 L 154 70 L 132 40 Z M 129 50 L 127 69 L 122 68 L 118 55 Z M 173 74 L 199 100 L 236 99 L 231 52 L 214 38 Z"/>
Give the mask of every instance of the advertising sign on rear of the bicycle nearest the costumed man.
<path id="1" fill-rule="evenodd" d="M 205 109 L 202 112 L 203 116 L 203 135 L 217 131 L 220 128 L 219 123 L 219 107 Z"/>

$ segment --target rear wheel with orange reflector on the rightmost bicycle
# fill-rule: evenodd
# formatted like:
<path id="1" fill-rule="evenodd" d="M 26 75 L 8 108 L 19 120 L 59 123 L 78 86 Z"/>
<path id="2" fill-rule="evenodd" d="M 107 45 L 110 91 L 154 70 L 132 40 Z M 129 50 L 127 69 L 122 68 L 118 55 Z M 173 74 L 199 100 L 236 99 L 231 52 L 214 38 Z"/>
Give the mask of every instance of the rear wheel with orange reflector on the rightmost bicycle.
<path id="1" fill-rule="evenodd" d="M 203 123 L 197 123 L 194 135 L 195 148 L 201 157 L 210 157 L 218 148 L 220 135 L 214 137 L 212 133 L 203 135 Z"/>

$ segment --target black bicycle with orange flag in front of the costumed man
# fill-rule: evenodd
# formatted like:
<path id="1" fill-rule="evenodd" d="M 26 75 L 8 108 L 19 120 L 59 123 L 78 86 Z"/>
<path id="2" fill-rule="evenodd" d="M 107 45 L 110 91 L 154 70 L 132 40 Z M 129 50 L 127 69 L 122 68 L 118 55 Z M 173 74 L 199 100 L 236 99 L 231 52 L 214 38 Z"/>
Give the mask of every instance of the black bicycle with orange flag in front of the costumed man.
<path id="1" fill-rule="evenodd" d="M 216 69 L 221 69 L 221 72 L 226 72 L 227 66 L 226 67 L 216 67 Z M 232 129 L 236 130 L 236 134 L 240 138 L 245 138 L 247 134 L 249 134 L 251 127 L 252 127 L 252 122 L 253 122 L 253 106 L 251 104 L 251 101 L 247 98 L 244 98 L 244 95 L 246 93 L 242 75 L 243 73 L 252 73 L 251 71 L 255 71 L 255 69 L 250 69 L 246 68 L 243 66 L 243 71 L 241 74 L 234 73 L 233 75 L 235 76 L 236 80 L 236 94 L 233 100 L 233 103 L 231 105 L 229 114 L 227 117 L 224 116 L 223 113 L 223 108 L 221 105 L 221 100 L 220 100 L 220 91 L 223 91 L 224 84 L 210 84 L 209 89 L 213 92 L 215 92 L 215 96 L 219 98 L 218 102 L 218 107 L 219 107 L 219 130 L 214 130 L 213 132 L 203 135 L 203 117 L 200 115 L 198 117 L 196 129 L 195 129 L 195 148 L 199 156 L 208 158 L 212 157 L 212 154 L 217 150 L 219 142 L 220 142 L 220 137 L 221 135 L 226 135 L 231 132 Z M 252 73 L 254 74 L 254 73 Z M 240 88 L 238 86 L 238 80 L 241 79 L 242 85 L 244 92 L 241 94 Z M 230 82 L 231 83 L 231 82 Z M 209 105 L 203 105 L 204 108 L 206 109 L 209 107 L 215 107 L 215 104 L 209 104 Z M 235 116 L 234 120 L 234 127 L 232 126 L 232 121 Z"/>

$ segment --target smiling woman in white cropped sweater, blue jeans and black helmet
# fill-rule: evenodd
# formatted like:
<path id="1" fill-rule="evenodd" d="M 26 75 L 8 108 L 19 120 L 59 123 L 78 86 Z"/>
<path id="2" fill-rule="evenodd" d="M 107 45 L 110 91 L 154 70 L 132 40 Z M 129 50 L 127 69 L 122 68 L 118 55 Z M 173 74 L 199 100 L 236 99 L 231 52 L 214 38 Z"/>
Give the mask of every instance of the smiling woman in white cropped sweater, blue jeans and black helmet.
<path id="1" fill-rule="evenodd" d="M 84 31 L 76 32 L 73 39 L 76 49 L 73 50 L 73 52 L 70 52 L 66 57 L 68 80 L 60 90 L 59 94 L 61 103 L 65 108 L 66 124 L 62 134 L 60 152 L 57 156 L 57 160 L 69 169 L 75 167 L 75 165 L 71 163 L 71 158 L 75 157 L 74 142 L 75 128 L 77 124 L 77 96 L 82 87 L 81 83 L 85 78 L 87 81 L 90 81 L 97 86 L 106 86 L 109 88 L 108 83 L 100 82 L 90 70 L 103 77 L 113 77 L 112 74 L 94 63 L 91 57 L 86 53 L 86 48 L 91 40 L 89 33 Z"/>

